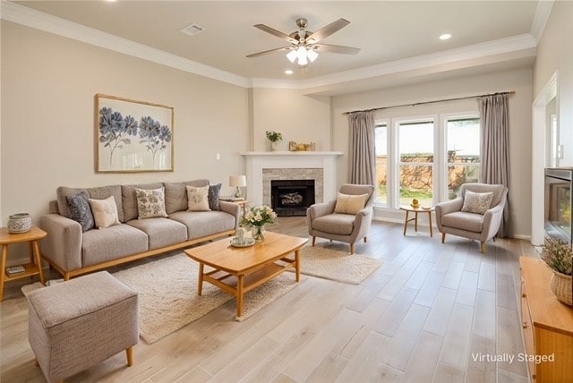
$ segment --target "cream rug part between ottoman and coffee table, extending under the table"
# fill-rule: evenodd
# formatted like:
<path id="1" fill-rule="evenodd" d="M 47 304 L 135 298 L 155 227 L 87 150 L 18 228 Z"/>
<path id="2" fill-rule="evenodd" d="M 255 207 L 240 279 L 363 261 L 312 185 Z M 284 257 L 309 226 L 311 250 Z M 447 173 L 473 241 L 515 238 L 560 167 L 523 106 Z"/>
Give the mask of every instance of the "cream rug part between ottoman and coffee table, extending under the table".
<path id="1" fill-rule="evenodd" d="M 139 293 L 140 336 L 155 343 L 194 320 L 200 319 L 222 304 L 235 299 L 217 286 L 203 283 L 197 295 L 199 266 L 184 253 L 126 268 L 112 275 Z M 304 278 L 301 278 L 304 282 Z M 244 295 L 243 316 L 248 319 L 257 311 L 292 290 L 296 285 L 291 273 L 284 273 Z M 24 295 L 43 287 L 39 282 L 22 286 Z M 236 306 L 233 306 L 236 310 Z"/>

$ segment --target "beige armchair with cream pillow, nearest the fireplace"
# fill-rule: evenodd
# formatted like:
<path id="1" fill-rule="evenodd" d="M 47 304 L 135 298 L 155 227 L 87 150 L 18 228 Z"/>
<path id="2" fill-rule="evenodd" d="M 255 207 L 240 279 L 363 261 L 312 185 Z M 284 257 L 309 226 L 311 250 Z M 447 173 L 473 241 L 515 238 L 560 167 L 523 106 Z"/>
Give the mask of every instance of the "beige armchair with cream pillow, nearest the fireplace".
<path id="1" fill-rule="evenodd" d="M 366 242 L 372 222 L 372 185 L 345 183 L 340 187 L 337 200 L 317 203 L 306 210 L 308 234 L 312 246 L 316 237 L 350 243 L 350 253 L 355 253 L 355 243 Z"/>

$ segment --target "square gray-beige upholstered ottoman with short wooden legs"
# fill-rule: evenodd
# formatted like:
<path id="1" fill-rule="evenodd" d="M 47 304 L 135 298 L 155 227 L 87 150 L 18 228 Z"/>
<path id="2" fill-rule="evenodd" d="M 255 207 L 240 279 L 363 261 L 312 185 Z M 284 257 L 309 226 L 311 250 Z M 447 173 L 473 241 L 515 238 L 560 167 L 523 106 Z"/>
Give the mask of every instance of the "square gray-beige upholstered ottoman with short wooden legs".
<path id="1" fill-rule="evenodd" d="M 101 271 L 28 295 L 28 336 L 46 379 L 62 381 L 139 341 L 138 295 Z"/>

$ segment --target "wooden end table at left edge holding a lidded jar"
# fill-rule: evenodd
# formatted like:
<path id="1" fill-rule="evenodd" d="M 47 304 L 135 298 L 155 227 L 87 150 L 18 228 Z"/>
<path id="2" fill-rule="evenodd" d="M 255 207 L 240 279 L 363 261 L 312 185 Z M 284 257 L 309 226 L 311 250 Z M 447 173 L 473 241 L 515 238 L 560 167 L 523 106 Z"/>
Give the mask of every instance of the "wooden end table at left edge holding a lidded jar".
<path id="1" fill-rule="evenodd" d="M 4 299 L 4 284 L 14 279 L 32 277 L 39 275 L 39 280 L 44 285 L 44 273 L 42 272 L 42 262 L 39 256 L 39 240 L 46 237 L 47 233 L 38 226 L 32 226 L 29 232 L 20 234 L 8 233 L 6 227 L 0 227 L 0 244 L 2 245 L 2 263 L 0 264 L 0 302 Z M 8 245 L 13 243 L 29 243 L 30 263 L 21 265 L 24 267 L 22 273 L 8 276 L 6 274 L 6 261 L 8 260 Z"/>

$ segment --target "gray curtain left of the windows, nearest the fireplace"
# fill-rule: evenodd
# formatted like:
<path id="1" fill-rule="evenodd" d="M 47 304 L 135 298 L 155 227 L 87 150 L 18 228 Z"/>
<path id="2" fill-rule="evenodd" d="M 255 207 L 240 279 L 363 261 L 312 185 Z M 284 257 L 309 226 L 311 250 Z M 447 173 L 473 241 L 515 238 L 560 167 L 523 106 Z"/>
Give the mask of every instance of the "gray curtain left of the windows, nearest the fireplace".
<path id="1" fill-rule="evenodd" d="M 376 182 L 374 112 L 351 113 L 348 124 L 352 147 L 350 183 L 373 185 Z"/>

